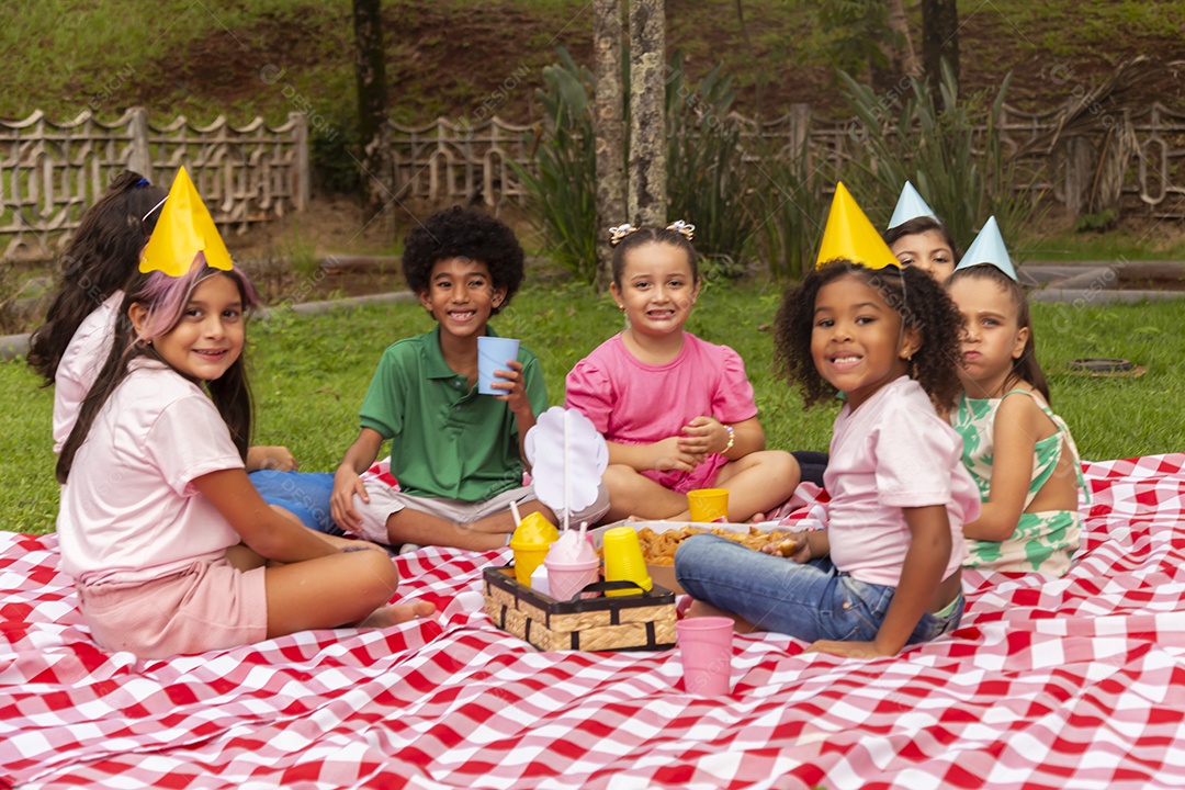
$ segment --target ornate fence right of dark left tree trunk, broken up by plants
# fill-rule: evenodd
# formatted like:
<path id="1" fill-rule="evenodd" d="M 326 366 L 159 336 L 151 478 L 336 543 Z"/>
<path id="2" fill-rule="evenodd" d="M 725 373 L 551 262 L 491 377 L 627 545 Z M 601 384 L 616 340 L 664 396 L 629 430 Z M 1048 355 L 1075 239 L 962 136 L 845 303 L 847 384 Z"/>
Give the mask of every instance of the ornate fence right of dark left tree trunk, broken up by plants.
<path id="1" fill-rule="evenodd" d="M 1072 130 L 1066 124 L 1071 116 Z M 790 155 L 807 139 L 812 155 L 828 160 L 838 172 L 860 144 L 854 121 L 815 118 L 805 104 L 760 124 L 732 117 L 742 126 L 744 141 L 761 137 L 764 149 L 773 144 L 781 155 Z M 507 162 L 530 167 L 543 134 L 538 124 L 514 124 L 498 116 L 478 126 L 447 118 L 423 127 L 391 123 L 390 133 L 401 197 L 480 200 L 488 206 L 520 197 Z M 1071 102 L 1039 114 L 1005 105 L 1001 137 L 1005 150 L 1017 158 L 1020 182 L 1014 188 L 1052 195 L 1069 216 L 1113 204 L 1116 213 L 1185 220 L 1185 115 L 1160 103 L 1113 111 Z M 1119 168 L 1113 195 L 1100 194 L 1107 167 Z"/>

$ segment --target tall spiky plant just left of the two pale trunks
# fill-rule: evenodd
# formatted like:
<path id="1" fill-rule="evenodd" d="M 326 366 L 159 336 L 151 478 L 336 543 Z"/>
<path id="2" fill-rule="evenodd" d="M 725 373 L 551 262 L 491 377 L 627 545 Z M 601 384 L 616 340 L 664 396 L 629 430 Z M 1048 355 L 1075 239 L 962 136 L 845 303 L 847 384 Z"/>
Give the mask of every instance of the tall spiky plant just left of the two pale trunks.
<path id="1" fill-rule="evenodd" d="M 596 277 L 596 140 L 589 96 L 592 72 L 577 65 L 564 47 L 559 62 L 543 70 L 536 96 L 547 128 L 534 156 L 534 171 L 511 162 L 527 208 L 551 257 L 584 282 Z"/>

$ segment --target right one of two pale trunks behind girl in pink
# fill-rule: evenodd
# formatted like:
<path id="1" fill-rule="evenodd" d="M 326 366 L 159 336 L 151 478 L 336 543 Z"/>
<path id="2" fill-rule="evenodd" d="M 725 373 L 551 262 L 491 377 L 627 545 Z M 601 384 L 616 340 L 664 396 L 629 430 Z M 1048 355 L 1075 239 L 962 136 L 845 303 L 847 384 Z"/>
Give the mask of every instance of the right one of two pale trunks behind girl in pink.
<path id="1" fill-rule="evenodd" d="M 662 0 L 629 4 L 629 221 L 666 225 L 666 20 Z"/>

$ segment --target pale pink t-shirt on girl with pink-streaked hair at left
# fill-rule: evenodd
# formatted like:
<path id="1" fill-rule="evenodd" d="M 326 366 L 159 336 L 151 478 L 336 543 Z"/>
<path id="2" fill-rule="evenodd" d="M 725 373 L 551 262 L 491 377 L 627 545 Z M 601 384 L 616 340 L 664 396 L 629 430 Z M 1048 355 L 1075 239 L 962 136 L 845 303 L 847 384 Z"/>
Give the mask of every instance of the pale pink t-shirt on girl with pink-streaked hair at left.
<path id="1" fill-rule="evenodd" d="M 192 381 L 134 362 L 62 487 L 62 567 L 77 582 L 141 582 L 213 560 L 239 535 L 192 481 L 242 469 L 226 423 Z"/>

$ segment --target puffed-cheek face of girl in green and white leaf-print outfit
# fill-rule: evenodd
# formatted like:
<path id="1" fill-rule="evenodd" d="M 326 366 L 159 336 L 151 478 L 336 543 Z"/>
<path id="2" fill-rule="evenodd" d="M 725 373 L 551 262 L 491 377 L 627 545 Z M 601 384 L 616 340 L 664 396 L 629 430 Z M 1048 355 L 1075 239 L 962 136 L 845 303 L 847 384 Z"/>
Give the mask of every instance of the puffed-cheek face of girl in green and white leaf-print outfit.
<path id="1" fill-rule="evenodd" d="M 1003 288 L 981 277 L 956 278 L 947 291 L 963 317 L 959 378 L 969 398 L 999 398 L 1024 354 L 1029 328 L 1019 326 L 1017 304 Z"/>

